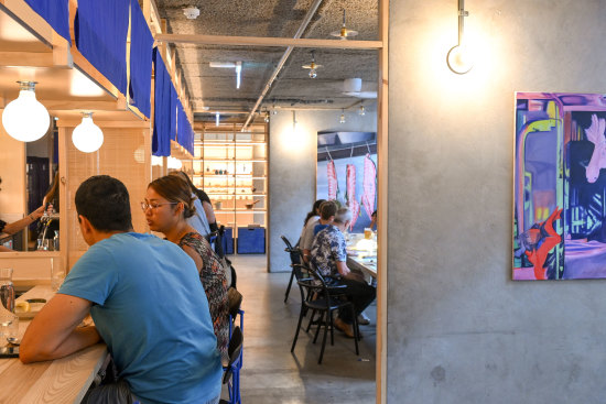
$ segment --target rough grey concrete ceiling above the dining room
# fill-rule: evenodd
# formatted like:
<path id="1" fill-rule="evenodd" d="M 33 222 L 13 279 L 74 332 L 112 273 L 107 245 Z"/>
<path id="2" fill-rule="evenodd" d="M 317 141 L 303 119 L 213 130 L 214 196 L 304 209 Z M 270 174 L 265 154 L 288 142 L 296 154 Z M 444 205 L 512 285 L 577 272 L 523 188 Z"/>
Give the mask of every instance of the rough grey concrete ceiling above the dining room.
<path id="1" fill-rule="evenodd" d="M 170 34 L 292 37 L 313 0 L 156 0 Z M 201 14 L 187 20 L 183 9 L 195 6 Z M 359 32 L 355 40 L 378 39 L 378 0 L 325 0 L 302 37 L 334 39 L 343 9 L 347 28 Z M 285 48 L 250 46 L 171 45 L 183 70 L 196 119 L 205 107 L 213 110 L 250 111 Z M 316 63 L 324 67 L 311 79 L 301 66 L 311 62 L 311 50 L 295 48 L 270 89 L 262 109 L 347 108 L 358 98 L 343 95 L 343 80 L 360 77 L 362 90 L 376 90 L 377 51 L 316 50 Z M 236 89 L 236 74 L 229 68 L 212 68 L 209 62 L 242 62 L 242 81 Z M 375 100 L 366 100 L 372 108 Z"/>

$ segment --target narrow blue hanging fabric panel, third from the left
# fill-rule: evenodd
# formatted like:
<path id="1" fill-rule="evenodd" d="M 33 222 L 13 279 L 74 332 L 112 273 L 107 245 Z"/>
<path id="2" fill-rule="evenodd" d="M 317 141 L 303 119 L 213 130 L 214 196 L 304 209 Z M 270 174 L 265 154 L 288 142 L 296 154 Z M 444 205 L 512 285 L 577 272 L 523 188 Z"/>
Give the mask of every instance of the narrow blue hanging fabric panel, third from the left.
<path id="1" fill-rule="evenodd" d="M 153 36 L 138 1 L 131 1 L 130 98 L 141 113 L 151 113 L 151 65 Z"/>

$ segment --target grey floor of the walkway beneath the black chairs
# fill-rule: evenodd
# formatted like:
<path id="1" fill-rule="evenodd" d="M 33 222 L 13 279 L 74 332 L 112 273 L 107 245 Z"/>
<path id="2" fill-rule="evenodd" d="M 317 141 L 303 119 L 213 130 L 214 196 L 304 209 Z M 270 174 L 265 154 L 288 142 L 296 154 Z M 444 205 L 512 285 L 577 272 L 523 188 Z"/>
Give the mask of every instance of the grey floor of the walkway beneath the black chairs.
<path id="1" fill-rule="evenodd" d="M 314 345 L 313 336 L 302 332 L 290 352 L 301 307 L 296 285 L 283 303 L 290 274 L 268 273 L 264 255 L 230 259 L 246 312 L 242 403 L 375 403 L 376 306 L 366 310 L 371 324 L 360 327 L 360 356 L 353 339 L 335 331 L 335 345 L 328 339 L 318 365 L 320 338 Z"/>

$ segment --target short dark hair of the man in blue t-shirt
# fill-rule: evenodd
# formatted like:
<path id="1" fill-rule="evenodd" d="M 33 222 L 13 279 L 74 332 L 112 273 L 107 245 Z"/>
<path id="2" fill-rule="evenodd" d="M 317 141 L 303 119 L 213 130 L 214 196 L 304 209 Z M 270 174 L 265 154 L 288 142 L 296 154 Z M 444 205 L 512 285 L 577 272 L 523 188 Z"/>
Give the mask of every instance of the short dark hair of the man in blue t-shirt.
<path id="1" fill-rule="evenodd" d="M 127 187 L 109 175 L 95 175 L 80 184 L 76 190 L 76 210 L 99 231 L 132 229 Z"/>

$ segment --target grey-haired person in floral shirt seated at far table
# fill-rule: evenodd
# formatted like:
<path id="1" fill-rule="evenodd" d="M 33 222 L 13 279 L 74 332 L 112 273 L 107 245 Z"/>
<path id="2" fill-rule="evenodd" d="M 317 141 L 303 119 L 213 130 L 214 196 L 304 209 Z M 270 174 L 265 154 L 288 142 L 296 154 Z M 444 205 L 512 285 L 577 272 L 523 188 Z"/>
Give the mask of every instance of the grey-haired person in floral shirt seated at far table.
<path id="1" fill-rule="evenodd" d="M 338 209 L 333 222 L 321 230 L 314 239 L 311 261 L 315 269 L 333 285 L 346 285 L 346 295 L 354 304 L 354 314 L 361 312 L 375 299 L 377 292 L 362 277 L 347 267 L 347 251 L 343 232 L 351 221 L 351 211 Z M 354 318 L 349 309 L 339 312 L 335 327 L 347 337 L 354 337 Z"/>

